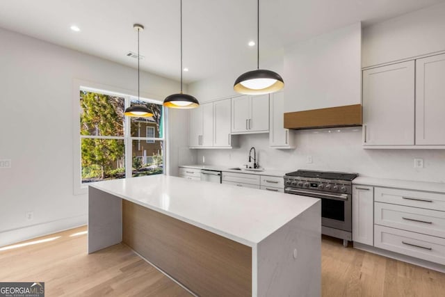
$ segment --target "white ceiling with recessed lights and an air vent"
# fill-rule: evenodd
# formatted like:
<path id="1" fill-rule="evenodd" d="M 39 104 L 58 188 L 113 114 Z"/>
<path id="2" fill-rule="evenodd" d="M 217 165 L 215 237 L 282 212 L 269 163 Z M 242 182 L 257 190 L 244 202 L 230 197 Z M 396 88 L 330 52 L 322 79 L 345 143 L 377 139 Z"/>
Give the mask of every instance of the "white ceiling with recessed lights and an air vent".
<path id="1" fill-rule="evenodd" d="M 341 26 L 372 24 L 445 0 L 261 0 L 261 59 L 285 45 Z M 184 81 L 256 67 L 255 0 L 184 0 Z M 136 67 L 140 23 L 141 69 L 179 79 L 179 0 L 2 0 L 0 27 Z M 70 26 L 76 24 L 81 32 Z M 5 42 L 0 40 L 0 42 Z"/>

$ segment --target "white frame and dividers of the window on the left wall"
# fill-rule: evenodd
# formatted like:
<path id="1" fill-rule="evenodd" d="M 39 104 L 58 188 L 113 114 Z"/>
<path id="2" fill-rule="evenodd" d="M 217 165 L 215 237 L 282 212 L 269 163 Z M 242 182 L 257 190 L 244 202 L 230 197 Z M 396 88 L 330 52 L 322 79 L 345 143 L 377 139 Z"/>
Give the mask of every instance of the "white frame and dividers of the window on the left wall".
<path id="1" fill-rule="evenodd" d="M 162 138 L 147 138 L 147 137 L 131 137 L 130 121 L 124 122 L 124 136 L 81 136 L 81 126 L 79 115 L 81 107 L 79 104 L 79 94 L 81 90 L 94 92 L 104 95 L 118 96 L 124 98 L 124 109 L 130 106 L 131 101 L 137 99 L 137 93 L 132 90 L 116 88 L 100 83 L 92 83 L 90 81 L 81 81 L 79 79 L 73 80 L 72 98 L 73 98 L 73 174 L 74 195 L 83 195 L 88 193 L 88 183 L 82 184 L 82 165 L 81 165 L 81 138 L 102 138 L 102 139 L 118 139 L 123 140 L 125 145 L 124 160 L 125 160 L 125 177 L 132 175 L 132 145 L 133 141 L 163 141 L 163 174 L 168 175 L 168 160 L 170 147 L 168 139 L 168 109 L 163 108 L 163 137 Z M 152 99 L 147 99 L 152 98 Z M 147 93 L 140 94 L 140 100 L 145 102 L 152 102 L 156 104 L 163 103 L 163 99 L 159 95 L 152 95 Z"/>

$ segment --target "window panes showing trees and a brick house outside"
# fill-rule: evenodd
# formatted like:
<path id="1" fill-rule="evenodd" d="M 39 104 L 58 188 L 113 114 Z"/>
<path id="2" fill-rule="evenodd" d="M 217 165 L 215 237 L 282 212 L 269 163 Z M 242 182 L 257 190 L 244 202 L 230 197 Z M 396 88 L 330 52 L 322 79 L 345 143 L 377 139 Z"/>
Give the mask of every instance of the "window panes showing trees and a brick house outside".
<path id="1" fill-rule="evenodd" d="M 107 179 L 163 174 L 162 102 L 80 88 L 79 186 Z M 128 118 L 125 106 L 145 104 L 153 116 Z M 79 138 L 78 138 L 79 139 Z"/>

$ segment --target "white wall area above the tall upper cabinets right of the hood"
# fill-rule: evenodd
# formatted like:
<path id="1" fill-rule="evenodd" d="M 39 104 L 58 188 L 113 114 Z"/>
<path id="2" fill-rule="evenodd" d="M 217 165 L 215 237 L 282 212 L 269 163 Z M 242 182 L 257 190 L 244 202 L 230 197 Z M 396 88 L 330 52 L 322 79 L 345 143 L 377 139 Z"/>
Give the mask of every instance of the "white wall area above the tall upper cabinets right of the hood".
<path id="1" fill-rule="evenodd" d="M 445 50 L 445 3 L 363 29 L 362 66 Z"/>

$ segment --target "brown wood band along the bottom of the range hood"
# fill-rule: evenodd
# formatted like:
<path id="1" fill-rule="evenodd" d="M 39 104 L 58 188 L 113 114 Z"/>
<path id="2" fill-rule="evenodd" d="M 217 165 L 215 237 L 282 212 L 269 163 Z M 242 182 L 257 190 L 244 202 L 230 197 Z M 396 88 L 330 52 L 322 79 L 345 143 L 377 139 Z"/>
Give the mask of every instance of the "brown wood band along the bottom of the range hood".
<path id="1" fill-rule="evenodd" d="M 284 113 L 286 129 L 362 126 L 362 104 Z"/>

